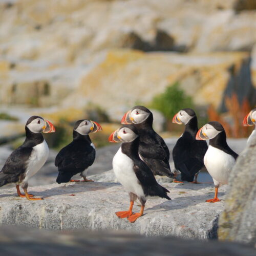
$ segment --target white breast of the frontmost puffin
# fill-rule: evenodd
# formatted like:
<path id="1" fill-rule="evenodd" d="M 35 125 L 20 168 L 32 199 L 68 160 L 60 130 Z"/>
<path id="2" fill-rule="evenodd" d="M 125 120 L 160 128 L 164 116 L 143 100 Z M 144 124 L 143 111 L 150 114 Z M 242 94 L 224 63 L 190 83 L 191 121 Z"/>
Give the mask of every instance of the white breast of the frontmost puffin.
<path id="1" fill-rule="evenodd" d="M 133 160 L 122 153 L 121 147 L 113 158 L 113 169 L 117 180 L 126 190 L 136 194 L 138 197 L 144 197 L 143 189 L 133 170 Z"/>

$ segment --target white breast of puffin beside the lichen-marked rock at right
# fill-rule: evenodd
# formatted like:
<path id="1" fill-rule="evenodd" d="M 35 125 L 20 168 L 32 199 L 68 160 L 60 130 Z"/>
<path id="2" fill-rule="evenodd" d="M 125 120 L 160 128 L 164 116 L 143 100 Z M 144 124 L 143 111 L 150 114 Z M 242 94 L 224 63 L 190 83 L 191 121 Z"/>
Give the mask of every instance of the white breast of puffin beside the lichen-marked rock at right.
<path id="1" fill-rule="evenodd" d="M 219 148 L 209 145 L 204 156 L 204 164 L 210 176 L 214 179 L 215 185 L 227 184 L 228 177 L 236 160 Z"/>

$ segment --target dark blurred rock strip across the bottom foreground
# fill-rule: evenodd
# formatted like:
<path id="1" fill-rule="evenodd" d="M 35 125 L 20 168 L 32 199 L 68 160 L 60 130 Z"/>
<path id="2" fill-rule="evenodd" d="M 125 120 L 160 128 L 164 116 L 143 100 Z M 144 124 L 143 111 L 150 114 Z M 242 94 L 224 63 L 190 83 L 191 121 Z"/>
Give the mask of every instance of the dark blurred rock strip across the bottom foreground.
<path id="1" fill-rule="evenodd" d="M 235 243 L 183 240 L 174 237 L 145 238 L 125 231 L 36 230 L 1 227 L 2 255 L 159 255 L 159 256 L 254 256 L 255 250 Z"/>

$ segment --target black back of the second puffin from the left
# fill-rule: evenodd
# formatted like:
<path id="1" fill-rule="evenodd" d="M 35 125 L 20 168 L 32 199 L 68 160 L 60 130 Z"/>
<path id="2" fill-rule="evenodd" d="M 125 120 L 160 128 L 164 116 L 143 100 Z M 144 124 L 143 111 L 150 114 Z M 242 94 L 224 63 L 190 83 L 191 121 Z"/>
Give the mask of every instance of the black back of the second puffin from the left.
<path id="1" fill-rule="evenodd" d="M 63 147 L 55 158 L 58 167 L 57 182 L 69 182 L 71 177 L 83 172 L 95 160 L 95 149 L 91 146 L 89 135 L 73 131 L 73 141 Z"/>

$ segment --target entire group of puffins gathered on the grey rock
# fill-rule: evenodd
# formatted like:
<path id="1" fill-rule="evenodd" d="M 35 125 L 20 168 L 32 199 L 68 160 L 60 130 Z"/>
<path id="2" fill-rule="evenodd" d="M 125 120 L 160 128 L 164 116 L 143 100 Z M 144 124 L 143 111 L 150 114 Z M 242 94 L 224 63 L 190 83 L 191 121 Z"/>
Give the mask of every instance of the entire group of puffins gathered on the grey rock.
<path id="1" fill-rule="evenodd" d="M 169 150 L 164 140 L 153 129 L 153 114 L 144 106 L 135 106 L 124 114 L 118 130 L 110 137 L 110 142 L 122 142 L 113 158 L 113 170 L 117 180 L 129 192 L 130 208 L 118 211 L 118 218 L 127 218 L 135 222 L 143 215 L 147 198 L 161 197 L 171 200 L 166 188 L 161 186 L 155 175 L 174 178 L 174 182 L 197 182 L 202 167 L 206 167 L 215 184 L 214 199 L 206 202 L 218 202 L 218 188 L 228 183 L 228 176 L 236 162 L 238 154 L 233 152 L 226 141 L 226 133 L 221 123 L 210 121 L 198 129 L 197 116 L 192 109 L 182 109 L 173 118 L 173 122 L 184 124 L 185 130 L 173 149 L 175 170 L 170 170 Z M 255 125 L 248 142 L 255 135 L 256 108 L 244 118 L 244 126 Z M 89 134 L 101 131 L 99 123 L 90 120 L 79 120 L 73 129 L 73 141 L 63 147 L 57 154 L 55 166 L 58 168 L 57 183 L 74 182 L 72 176 L 79 174 L 83 181 L 87 169 L 95 160 L 95 146 Z M 26 139 L 6 160 L 0 172 L 0 186 L 15 183 L 19 197 L 28 200 L 42 200 L 28 194 L 28 180 L 45 164 L 49 148 L 42 133 L 53 133 L 53 124 L 39 116 L 28 119 Z M 209 140 L 209 146 L 205 140 Z M 183 181 L 177 181 L 181 174 Z M 194 181 L 195 178 L 195 181 Z M 25 195 L 19 190 L 24 189 Z M 141 210 L 133 214 L 134 201 L 138 199 Z"/>

